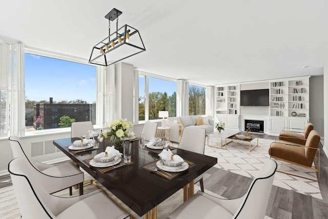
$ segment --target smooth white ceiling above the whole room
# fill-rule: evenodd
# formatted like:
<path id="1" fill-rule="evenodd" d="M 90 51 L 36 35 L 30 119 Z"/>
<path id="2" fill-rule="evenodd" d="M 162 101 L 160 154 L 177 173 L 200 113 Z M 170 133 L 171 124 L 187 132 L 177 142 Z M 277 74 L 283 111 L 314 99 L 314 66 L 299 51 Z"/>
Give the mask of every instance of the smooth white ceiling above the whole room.
<path id="1" fill-rule="evenodd" d="M 328 63 L 326 0 L 6 0 L 0 5 L 0 39 L 86 59 L 108 36 L 104 16 L 116 8 L 122 11 L 118 26 L 138 29 L 147 50 L 124 62 L 201 85 L 320 75 Z"/>

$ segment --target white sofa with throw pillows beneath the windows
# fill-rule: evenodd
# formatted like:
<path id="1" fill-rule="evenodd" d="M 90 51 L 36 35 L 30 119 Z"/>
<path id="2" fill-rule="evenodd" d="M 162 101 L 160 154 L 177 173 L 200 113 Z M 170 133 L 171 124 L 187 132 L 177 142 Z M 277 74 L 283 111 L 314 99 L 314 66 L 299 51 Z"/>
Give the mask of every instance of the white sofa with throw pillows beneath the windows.
<path id="1" fill-rule="evenodd" d="M 202 118 L 202 123 L 204 124 L 197 125 L 196 124 L 197 118 Z M 212 134 L 214 132 L 214 121 L 212 118 L 208 117 L 207 115 L 186 115 L 186 116 L 168 117 L 166 121 L 166 127 L 171 128 L 170 141 L 179 143 L 183 129 L 185 128 L 205 129 L 206 135 Z"/>

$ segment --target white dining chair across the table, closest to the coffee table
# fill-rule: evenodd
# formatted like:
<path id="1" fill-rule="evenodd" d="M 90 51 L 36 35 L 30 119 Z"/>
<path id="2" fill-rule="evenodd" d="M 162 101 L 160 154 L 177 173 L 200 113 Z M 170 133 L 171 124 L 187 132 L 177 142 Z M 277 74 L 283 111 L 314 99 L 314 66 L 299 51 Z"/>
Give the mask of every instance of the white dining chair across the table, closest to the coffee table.
<path id="1" fill-rule="evenodd" d="M 206 138 L 205 129 L 186 127 L 185 130 L 183 130 L 178 148 L 192 151 L 195 153 L 204 154 L 205 138 Z M 195 178 L 194 182 L 195 183 L 199 182 L 200 189 L 203 192 L 204 191 L 203 175 L 200 175 L 197 178 Z"/>

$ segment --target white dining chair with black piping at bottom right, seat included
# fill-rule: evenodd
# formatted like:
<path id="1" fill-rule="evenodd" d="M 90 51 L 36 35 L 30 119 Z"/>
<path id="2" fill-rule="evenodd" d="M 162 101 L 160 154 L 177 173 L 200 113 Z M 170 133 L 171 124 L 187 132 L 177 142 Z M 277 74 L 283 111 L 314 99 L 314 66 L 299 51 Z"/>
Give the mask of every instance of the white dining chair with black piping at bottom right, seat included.
<path id="1" fill-rule="evenodd" d="M 269 202 L 277 163 L 267 159 L 242 197 L 224 199 L 198 191 L 167 218 L 252 218 L 263 219 Z"/>

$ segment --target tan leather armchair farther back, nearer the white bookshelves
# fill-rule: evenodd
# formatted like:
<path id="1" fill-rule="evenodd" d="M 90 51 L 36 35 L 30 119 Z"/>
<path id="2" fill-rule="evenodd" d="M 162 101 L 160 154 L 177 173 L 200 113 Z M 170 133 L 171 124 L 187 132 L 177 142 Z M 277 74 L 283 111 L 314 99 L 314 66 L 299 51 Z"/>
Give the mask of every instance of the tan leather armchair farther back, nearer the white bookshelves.
<path id="1" fill-rule="evenodd" d="M 279 140 L 299 145 L 305 145 L 306 138 L 308 138 L 313 128 L 314 127 L 312 123 L 308 123 L 305 129 L 283 128 L 283 130 L 279 134 Z M 301 132 L 302 130 L 304 132 Z"/>

